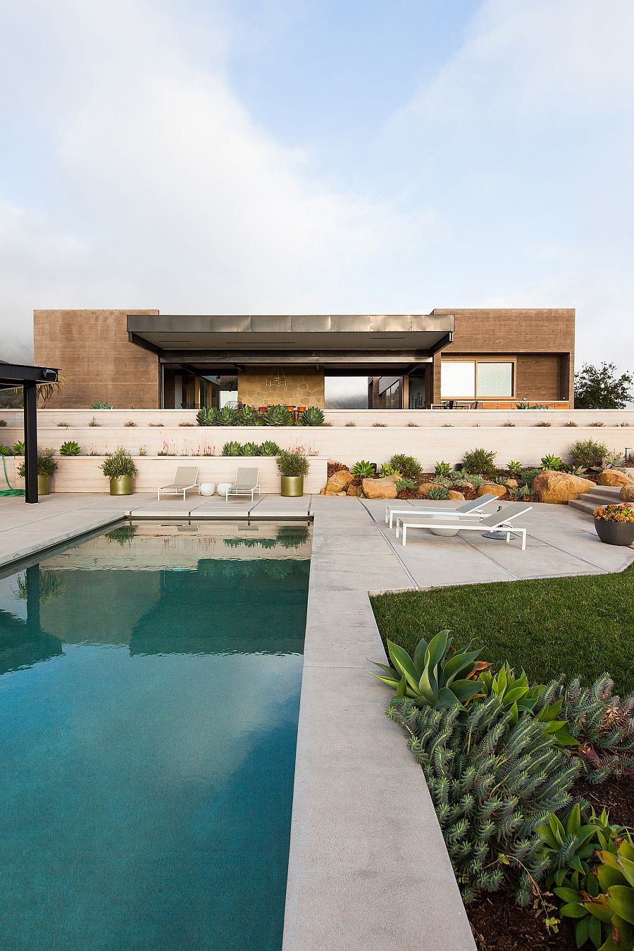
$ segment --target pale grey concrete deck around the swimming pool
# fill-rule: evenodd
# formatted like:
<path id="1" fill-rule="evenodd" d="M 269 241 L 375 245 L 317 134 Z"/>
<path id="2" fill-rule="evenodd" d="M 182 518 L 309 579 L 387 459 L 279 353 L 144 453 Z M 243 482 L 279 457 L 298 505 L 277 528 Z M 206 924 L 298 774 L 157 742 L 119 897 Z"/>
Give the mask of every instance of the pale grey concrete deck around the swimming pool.
<path id="1" fill-rule="evenodd" d="M 602 544 L 591 518 L 566 506 L 535 505 L 520 519 L 524 553 L 517 541 L 424 531 L 403 549 L 384 512 L 384 502 L 320 495 L 263 495 L 253 505 L 198 495 L 160 505 L 154 495 L 48 495 L 36 506 L 0 498 L 0 565 L 130 514 L 314 518 L 284 951 L 475 946 L 422 771 L 384 716 L 390 691 L 368 675 L 367 658 L 383 653 L 368 592 L 634 562 L 634 547 Z"/>

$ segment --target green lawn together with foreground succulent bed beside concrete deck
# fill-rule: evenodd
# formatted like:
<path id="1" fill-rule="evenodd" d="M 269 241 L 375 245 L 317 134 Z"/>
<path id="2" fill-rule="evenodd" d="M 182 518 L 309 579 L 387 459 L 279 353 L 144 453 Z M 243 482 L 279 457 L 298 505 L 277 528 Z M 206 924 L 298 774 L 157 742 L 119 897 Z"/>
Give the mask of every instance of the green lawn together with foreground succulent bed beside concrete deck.
<path id="1" fill-rule="evenodd" d="M 630 567 L 372 599 L 483 951 L 634 947 L 633 594 Z"/>

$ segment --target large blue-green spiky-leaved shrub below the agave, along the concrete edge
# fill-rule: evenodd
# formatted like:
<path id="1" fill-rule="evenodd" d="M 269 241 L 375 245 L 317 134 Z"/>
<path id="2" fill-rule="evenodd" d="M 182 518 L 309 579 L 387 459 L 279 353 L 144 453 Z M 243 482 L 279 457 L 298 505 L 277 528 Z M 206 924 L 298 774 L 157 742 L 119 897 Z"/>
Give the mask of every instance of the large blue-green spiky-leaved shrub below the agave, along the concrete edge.
<path id="1" fill-rule="evenodd" d="M 539 854 L 538 829 L 549 812 L 571 802 L 580 765 L 533 717 L 513 722 L 513 712 L 496 697 L 467 712 L 461 704 L 418 708 L 396 698 L 387 715 L 407 731 L 423 769 L 464 901 L 471 902 L 477 889 L 500 887 L 501 853 L 519 870 L 518 902 L 528 903 L 532 883 L 549 865 Z"/>

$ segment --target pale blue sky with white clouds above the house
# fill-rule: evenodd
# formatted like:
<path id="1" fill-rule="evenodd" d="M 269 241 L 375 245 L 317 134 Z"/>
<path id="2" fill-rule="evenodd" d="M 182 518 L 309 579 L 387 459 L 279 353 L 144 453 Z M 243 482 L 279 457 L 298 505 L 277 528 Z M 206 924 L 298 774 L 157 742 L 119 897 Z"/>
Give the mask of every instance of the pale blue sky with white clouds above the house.
<path id="1" fill-rule="evenodd" d="M 0 11 L 0 357 L 37 307 L 536 306 L 634 368 L 632 0 Z"/>

